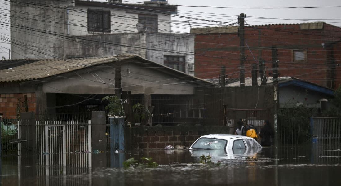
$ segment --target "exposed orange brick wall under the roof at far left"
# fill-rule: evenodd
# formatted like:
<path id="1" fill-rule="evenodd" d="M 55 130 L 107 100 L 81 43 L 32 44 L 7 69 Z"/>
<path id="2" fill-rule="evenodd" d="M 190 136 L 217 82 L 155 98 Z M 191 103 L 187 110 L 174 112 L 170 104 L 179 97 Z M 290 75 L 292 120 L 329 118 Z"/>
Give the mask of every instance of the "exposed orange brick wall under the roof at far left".
<path id="1" fill-rule="evenodd" d="M 35 112 L 36 98 L 34 93 L 0 94 L 0 114 L 5 118 L 13 119 L 17 115 L 17 104 L 21 112 L 25 112 L 25 95 L 27 96 L 28 112 Z"/>

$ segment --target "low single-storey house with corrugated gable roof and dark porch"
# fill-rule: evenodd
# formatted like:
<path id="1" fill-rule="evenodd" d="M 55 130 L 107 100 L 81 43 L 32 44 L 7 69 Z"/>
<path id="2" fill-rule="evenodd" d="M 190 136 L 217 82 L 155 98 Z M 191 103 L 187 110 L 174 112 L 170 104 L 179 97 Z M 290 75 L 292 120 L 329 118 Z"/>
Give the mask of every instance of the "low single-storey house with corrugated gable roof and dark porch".
<path id="1" fill-rule="evenodd" d="M 136 55 L 23 61 L 0 70 L 0 115 L 6 118 L 15 118 L 18 109 L 36 115 L 103 111 L 101 99 L 121 88 L 129 104 L 153 106 L 154 124 L 172 124 L 202 117 L 197 88 L 214 87 Z"/>

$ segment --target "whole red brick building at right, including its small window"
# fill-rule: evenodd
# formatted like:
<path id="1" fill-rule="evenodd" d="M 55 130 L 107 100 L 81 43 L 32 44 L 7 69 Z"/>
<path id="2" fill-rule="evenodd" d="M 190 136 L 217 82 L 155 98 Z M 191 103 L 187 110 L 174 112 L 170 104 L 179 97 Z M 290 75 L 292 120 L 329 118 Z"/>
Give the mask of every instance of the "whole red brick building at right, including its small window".
<path id="1" fill-rule="evenodd" d="M 193 28 L 191 33 L 195 34 L 195 76 L 219 78 L 225 66 L 227 78 L 239 77 L 238 27 Z M 341 28 L 324 22 L 246 26 L 245 77 L 251 77 L 252 64 L 260 61 L 266 64 L 266 76 L 272 76 L 272 61 L 278 59 L 279 76 L 335 89 L 341 84 L 340 39 Z"/>

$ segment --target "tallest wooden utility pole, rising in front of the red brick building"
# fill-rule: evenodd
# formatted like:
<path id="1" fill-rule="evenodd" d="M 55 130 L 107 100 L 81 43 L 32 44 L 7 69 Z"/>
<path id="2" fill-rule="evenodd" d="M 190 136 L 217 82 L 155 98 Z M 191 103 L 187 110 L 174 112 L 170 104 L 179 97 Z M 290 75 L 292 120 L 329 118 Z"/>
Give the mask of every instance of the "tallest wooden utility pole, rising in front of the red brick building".
<path id="1" fill-rule="evenodd" d="M 244 38 L 244 18 L 246 15 L 244 13 L 241 13 L 238 17 L 239 22 L 239 37 L 240 37 L 240 70 L 239 70 L 239 83 L 240 86 L 245 86 L 245 66 L 244 66 L 244 60 L 245 60 L 245 38 Z"/>

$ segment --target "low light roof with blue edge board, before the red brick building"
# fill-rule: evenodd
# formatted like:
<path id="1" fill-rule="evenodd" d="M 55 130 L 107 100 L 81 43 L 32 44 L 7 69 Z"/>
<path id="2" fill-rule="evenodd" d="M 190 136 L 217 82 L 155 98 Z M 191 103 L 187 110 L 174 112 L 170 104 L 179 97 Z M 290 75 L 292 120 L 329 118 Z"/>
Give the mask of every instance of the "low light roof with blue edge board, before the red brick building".
<path id="1" fill-rule="evenodd" d="M 296 77 L 278 77 L 278 81 L 279 87 L 285 87 L 285 86 L 289 86 L 289 85 L 293 85 L 293 86 L 298 86 L 301 88 L 306 88 L 306 89 L 310 89 L 310 90 L 314 90 L 317 92 L 321 92 L 323 94 L 327 94 L 330 96 L 334 96 L 334 90 L 327 88 L 327 87 L 323 87 L 320 85 L 317 85 L 315 83 L 311 83 L 305 80 L 301 80 L 299 78 Z M 258 77 L 257 78 L 257 84 L 260 85 L 261 84 L 261 78 Z M 266 84 L 273 84 L 273 77 L 267 77 L 267 81 Z M 229 83 L 226 85 L 226 87 L 239 87 L 239 81 L 233 82 L 233 83 Z M 245 86 L 252 86 L 252 78 L 251 77 L 246 77 L 245 78 Z"/>

